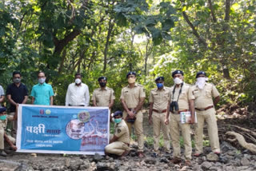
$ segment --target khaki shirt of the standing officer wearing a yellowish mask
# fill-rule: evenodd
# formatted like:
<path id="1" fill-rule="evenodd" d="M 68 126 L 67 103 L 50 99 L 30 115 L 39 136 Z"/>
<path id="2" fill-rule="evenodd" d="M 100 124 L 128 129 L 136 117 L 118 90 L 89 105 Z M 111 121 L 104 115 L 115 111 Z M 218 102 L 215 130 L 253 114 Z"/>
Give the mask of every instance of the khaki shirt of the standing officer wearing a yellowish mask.
<path id="1" fill-rule="evenodd" d="M 145 89 L 142 85 L 135 83 L 133 88 L 130 88 L 129 85 L 122 88 L 120 99 L 124 99 L 127 107 L 133 109 L 138 105 L 141 97 L 146 97 Z"/>

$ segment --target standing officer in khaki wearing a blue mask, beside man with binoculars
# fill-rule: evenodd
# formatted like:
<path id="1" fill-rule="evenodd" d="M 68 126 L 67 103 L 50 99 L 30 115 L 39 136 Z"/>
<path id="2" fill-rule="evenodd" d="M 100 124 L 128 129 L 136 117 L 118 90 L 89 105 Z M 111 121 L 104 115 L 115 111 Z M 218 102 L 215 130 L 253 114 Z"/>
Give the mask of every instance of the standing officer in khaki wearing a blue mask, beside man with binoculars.
<path id="1" fill-rule="evenodd" d="M 167 105 L 170 101 L 170 88 L 164 86 L 164 77 L 155 80 L 156 89 L 150 91 L 150 125 L 153 122 L 154 152 L 159 153 L 160 129 L 162 129 L 164 148 L 170 153 L 169 125 L 165 124 Z"/>

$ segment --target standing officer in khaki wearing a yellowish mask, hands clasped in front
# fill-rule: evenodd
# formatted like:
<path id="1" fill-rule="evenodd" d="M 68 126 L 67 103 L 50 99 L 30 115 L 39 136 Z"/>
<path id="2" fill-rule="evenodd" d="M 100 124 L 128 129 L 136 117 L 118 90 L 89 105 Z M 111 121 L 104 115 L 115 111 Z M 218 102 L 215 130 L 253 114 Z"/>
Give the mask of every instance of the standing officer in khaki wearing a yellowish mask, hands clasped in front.
<path id="1" fill-rule="evenodd" d="M 138 157 L 144 157 L 143 146 L 143 114 L 142 105 L 145 101 L 145 89 L 142 85 L 136 83 L 136 74 L 129 72 L 126 75 L 129 85 L 122 88 L 121 101 L 124 108 L 123 116 L 131 134 L 131 126 L 134 125 L 138 137 Z"/>

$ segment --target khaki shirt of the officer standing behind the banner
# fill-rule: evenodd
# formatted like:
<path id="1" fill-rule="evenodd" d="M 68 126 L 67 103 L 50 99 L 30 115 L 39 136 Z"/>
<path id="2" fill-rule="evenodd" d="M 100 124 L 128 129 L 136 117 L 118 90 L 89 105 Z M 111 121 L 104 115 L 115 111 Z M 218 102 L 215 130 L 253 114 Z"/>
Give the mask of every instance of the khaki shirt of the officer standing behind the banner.
<path id="1" fill-rule="evenodd" d="M 110 101 L 114 100 L 114 90 L 106 87 L 105 89 L 94 89 L 92 100 L 96 100 L 98 106 L 109 106 Z"/>

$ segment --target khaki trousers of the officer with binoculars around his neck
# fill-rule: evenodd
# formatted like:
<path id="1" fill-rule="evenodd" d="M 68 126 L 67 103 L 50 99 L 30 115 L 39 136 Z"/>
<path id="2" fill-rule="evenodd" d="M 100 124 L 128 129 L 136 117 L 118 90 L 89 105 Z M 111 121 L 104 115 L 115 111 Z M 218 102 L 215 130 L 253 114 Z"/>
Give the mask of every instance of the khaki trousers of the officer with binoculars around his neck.
<path id="1" fill-rule="evenodd" d="M 180 129 L 182 129 L 186 160 L 191 160 L 190 124 L 182 124 L 180 114 L 170 113 L 170 137 L 174 148 L 174 157 L 181 157 Z"/>

